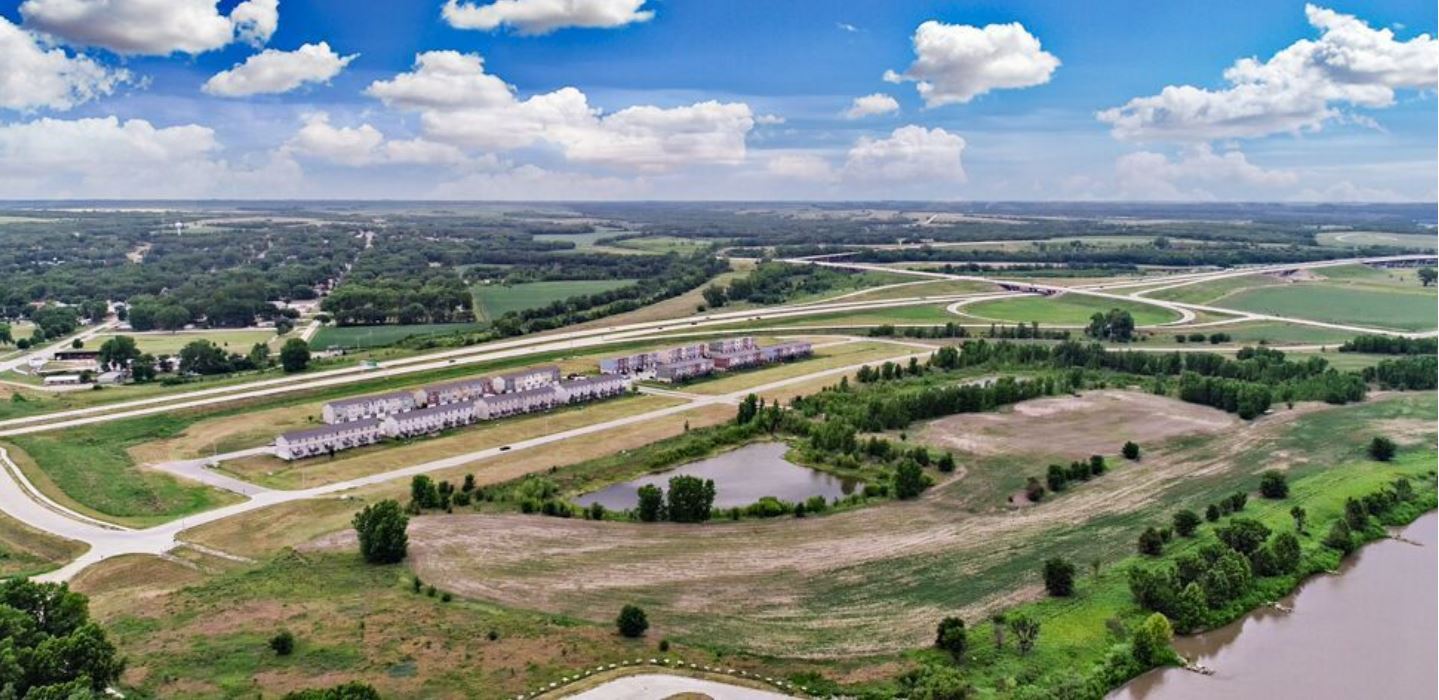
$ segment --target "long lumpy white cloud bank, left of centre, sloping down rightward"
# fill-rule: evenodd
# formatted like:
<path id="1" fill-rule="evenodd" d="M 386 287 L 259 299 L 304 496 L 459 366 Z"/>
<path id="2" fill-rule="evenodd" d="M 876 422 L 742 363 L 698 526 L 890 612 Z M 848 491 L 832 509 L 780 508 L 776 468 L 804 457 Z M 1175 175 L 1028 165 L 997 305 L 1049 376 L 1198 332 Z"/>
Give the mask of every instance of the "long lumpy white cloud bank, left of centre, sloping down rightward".
<path id="1" fill-rule="evenodd" d="M 681 107 L 636 105 L 614 112 L 590 107 L 577 88 L 519 99 L 472 53 L 427 52 L 414 69 L 366 91 L 420 115 L 425 137 L 489 151 L 550 145 L 580 163 L 668 170 L 689 164 L 735 164 L 755 117 L 744 102 Z"/>

